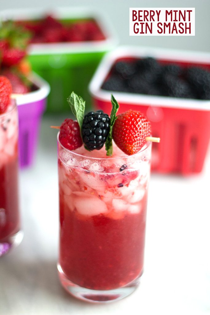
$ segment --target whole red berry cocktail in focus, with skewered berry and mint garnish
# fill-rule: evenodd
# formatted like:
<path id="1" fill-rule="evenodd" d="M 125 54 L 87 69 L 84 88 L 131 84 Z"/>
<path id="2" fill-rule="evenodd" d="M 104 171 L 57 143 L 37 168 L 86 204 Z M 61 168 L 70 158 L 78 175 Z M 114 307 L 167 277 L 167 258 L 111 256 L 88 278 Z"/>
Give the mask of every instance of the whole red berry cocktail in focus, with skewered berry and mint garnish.
<path id="1" fill-rule="evenodd" d="M 65 119 L 58 136 L 60 281 L 93 302 L 131 294 L 144 262 L 150 123 L 136 111 L 115 116 L 113 96 L 112 106 L 111 117 Z"/>

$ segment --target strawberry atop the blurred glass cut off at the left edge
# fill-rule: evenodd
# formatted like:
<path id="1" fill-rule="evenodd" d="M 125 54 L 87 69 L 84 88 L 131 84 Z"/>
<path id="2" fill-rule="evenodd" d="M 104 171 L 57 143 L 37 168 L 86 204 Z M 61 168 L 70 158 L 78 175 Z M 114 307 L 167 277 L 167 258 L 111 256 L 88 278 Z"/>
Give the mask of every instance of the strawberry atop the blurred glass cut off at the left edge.
<path id="1" fill-rule="evenodd" d="M 10 103 L 10 95 L 12 93 L 12 85 L 8 78 L 0 76 L 0 114 L 6 112 Z"/>

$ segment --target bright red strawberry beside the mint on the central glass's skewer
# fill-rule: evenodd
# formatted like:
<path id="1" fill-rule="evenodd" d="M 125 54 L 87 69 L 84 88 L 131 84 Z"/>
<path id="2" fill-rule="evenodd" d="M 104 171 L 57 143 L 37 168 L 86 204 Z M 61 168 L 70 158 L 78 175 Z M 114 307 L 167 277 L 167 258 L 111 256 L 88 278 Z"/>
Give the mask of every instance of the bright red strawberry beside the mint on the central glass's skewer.
<path id="1" fill-rule="evenodd" d="M 117 115 L 112 129 L 116 145 L 126 154 L 139 152 L 151 135 L 149 120 L 140 112 L 129 110 Z"/>

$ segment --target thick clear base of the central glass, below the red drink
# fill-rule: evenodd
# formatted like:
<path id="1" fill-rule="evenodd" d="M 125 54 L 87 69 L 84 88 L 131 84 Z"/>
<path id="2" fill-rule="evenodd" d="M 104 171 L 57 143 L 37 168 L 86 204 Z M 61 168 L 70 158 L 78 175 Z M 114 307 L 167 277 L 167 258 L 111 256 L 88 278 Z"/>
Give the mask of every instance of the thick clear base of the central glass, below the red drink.
<path id="1" fill-rule="evenodd" d="M 74 297 L 92 303 L 109 303 L 124 299 L 133 293 L 139 286 L 140 277 L 134 279 L 127 285 L 112 290 L 92 290 L 82 288 L 71 282 L 63 272 L 60 264 L 57 265 L 60 282 L 64 289 Z"/>

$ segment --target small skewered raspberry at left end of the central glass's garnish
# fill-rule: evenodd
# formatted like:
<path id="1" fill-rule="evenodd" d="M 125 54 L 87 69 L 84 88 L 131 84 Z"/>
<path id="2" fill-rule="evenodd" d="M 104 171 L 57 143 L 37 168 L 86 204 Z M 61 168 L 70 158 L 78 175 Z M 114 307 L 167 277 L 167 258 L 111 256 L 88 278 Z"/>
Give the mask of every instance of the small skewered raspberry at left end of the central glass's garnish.
<path id="1" fill-rule="evenodd" d="M 67 118 L 60 126 L 59 140 L 68 150 L 75 150 L 82 146 L 79 124 L 76 120 Z"/>

